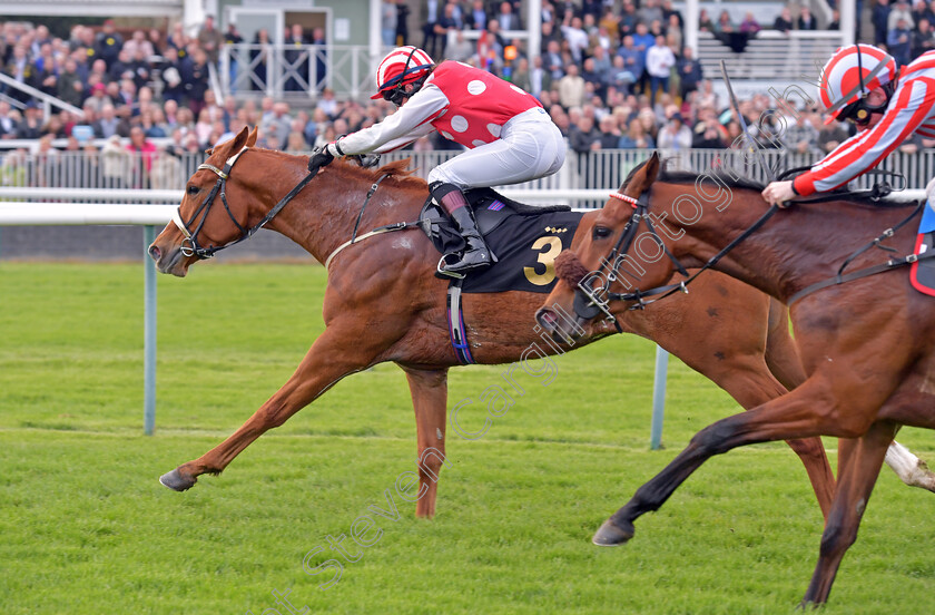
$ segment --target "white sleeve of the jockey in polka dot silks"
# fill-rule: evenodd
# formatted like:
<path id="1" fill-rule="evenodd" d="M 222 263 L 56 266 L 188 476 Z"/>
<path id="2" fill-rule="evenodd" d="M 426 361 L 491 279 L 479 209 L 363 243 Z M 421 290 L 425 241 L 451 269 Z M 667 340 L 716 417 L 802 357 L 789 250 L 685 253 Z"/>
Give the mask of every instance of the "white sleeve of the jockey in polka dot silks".
<path id="1" fill-rule="evenodd" d="M 449 99 L 437 87 L 426 84 L 396 113 L 380 124 L 338 139 L 347 155 L 396 149 L 434 130 L 430 124 L 447 109 Z"/>

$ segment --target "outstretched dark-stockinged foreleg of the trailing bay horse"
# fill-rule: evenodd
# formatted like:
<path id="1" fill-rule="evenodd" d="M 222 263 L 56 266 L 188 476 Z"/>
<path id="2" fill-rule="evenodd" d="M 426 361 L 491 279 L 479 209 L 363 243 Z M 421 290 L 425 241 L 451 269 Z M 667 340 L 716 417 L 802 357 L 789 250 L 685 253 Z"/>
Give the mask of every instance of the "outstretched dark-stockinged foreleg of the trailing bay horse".
<path id="1" fill-rule="evenodd" d="M 855 392 L 859 394 L 859 392 Z M 869 392 L 865 391 L 865 399 Z M 633 521 L 644 512 L 657 510 L 672 492 L 706 460 L 737 447 L 776 440 L 795 440 L 823 433 L 853 438 L 864 433 L 873 422 L 873 408 L 859 413 L 855 408 L 844 414 L 830 404 L 826 384 L 811 379 L 795 391 L 774 399 L 759 408 L 735 414 L 702 429 L 661 472 L 656 475 L 620 510 L 608 519 L 594 535 L 594 544 L 618 545 L 633 536 Z"/>

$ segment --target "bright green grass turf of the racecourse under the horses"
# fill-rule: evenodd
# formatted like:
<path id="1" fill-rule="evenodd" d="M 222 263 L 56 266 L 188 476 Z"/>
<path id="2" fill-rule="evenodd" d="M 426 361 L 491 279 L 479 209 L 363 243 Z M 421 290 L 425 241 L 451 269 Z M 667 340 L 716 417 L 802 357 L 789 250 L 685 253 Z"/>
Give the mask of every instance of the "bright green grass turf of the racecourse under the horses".
<path id="1" fill-rule="evenodd" d="M 176 494 L 157 477 L 236 429 L 322 331 L 317 266 L 196 265 L 159 277 L 157 431 L 142 423 L 142 265 L 0 263 L 0 614 L 260 615 L 270 592 L 323 613 L 790 613 L 821 531 L 797 459 L 762 445 L 712 459 L 636 539 L 590 537 L 695 431 L 737 411 L 670 365 L 649 451 L 652 344 L 617 338 L 555 359 L 476 441 L 449 431 L 439 515 L 383 534 L 318 585 L 303 558 L 347 535 L 413 466 L 394 365 L 356 374 Z M 503 368 L 455 369 L 452 401 Z M 462 411 L 480 426 L 475 407 Z M 900 440 L 935 459 L 931 432 Z M 834 441 L 828 442 L 834 446 Z M 935 612 L 935 496 L 884 470 L 829 614 Z M 371 536 L 374 536 L 371 534 Z M 352 553 L 356 555 L 356 553 Z M 323 549 L 309 567 L 333 557 Z M 267 611 L 273 615 L 276 611 Z M 287 611 L 279 607 L 279 613 Z"/>

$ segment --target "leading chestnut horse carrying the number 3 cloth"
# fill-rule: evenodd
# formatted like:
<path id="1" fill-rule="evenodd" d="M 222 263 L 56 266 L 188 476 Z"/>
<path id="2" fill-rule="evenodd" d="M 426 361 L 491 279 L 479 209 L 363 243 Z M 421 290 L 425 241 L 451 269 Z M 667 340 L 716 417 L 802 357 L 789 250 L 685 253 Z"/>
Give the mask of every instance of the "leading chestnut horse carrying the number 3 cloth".
<path id="1" fill-rule="evenodd" d="M 308 158 L 256 148 L 255 143 L 256 129 L 244 129 L 209 152 L 205 165 L 186 185 L 178 222 L 166 226 L 149 254 L 160 272 L 184 276 L 199 260 L 195 242 L 187 235 L 194 234 L 204 245 L 225 246 L 248 237 L 252 228 L 265 222 L 318 262 L 332 258 L 323 309 L 326 328 L 295 373 L 239 429 L 160 481 L 185 490 L 200 475 L 220 472 L 260 435 L 283 424 L 345 375 L 392 361 L 405 372 L 416 417 L 421 495 L 416 515 L 431 517 L 444 462 L 447 370 L 460 364 L 449 339 L 446 282 L 433 275 L 437 253 L 423 233 L 401 231 L 373 236 L 335 255 L 357 224 L 363 233 L 415 219 L 427 186 L 409 176 L 405 162 L 374 172 L 335 160 L 308 180 L 287 206 L 277 208 L 289 187 L 307 180 Z M 380 187 L 363 211 L 375 183 Z M 277 214 L 270 218 L 273 211 Z M 191 223 L 190 230 L 183 231 L 185 221 Z M 780 381 L 793 383 L 801 371 L 784 309 L 727 276 L 706 277 L 688 302 L 654 312 L 622 313 L 622 330 L 654 340 L 745 408 L 781 394 L 786 389 Z M 552 353 L 533 329 L 540 303 L 541 297 L 531 292 L 464 295 L 464 320 L 475 361 L 514 362 L 534 342 Z M 702 316 L 686 320 L 690 312 Z M 614 332 L 608 322 L 592 323 L 580 343 L 562 348 L 578 348 Z M 820 440 L 790 443 L 826 514 L 834 476 Z"/>

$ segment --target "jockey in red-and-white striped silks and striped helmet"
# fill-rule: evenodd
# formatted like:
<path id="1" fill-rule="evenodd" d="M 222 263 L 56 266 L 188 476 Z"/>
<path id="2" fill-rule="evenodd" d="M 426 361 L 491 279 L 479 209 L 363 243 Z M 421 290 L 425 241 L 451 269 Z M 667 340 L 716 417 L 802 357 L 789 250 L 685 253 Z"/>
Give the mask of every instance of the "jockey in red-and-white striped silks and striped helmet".
<path id="1" fill-rule="evenodd" d="M 818 94 L 828 110 L 825 124 L 853 121 L 857 134 L 794 180 L 769 184 L 762 196 L 770 204 L 843 186 L 915 133 L 935 138 L 935 51 L 899 69 L 893 56 L 870 45 L 843 47 L 821 70 Z M 935 227 L 931 207 L 926 214 Z"/>

